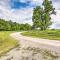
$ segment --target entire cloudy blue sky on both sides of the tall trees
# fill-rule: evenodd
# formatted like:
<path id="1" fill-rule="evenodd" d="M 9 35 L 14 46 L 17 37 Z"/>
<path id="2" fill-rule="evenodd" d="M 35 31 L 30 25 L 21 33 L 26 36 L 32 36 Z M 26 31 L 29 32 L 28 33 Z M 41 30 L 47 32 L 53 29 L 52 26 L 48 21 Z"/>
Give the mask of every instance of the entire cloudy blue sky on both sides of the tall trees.
<path id="1" fill-rule="evenodd" d="M 43 0 L 0 0 L 0 18 L 32 24 L 33 8 Z M 56 15 L 51 15 L 52 28 L 60 28 L 60 0 L 52 0 Z"/>

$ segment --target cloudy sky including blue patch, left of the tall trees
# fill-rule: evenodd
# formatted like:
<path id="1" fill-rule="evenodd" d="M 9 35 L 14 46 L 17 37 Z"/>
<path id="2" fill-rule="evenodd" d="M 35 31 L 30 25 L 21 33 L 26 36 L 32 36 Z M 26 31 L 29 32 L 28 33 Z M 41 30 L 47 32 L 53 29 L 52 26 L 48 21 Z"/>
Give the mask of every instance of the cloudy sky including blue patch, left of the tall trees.
<path id="1" fill-rule="evenodd" d="M 0 0 L 0 18 L 32 24 L 33 8 L 39 0 Z M 20 8 L 21 7 L 21 8 Z"/>

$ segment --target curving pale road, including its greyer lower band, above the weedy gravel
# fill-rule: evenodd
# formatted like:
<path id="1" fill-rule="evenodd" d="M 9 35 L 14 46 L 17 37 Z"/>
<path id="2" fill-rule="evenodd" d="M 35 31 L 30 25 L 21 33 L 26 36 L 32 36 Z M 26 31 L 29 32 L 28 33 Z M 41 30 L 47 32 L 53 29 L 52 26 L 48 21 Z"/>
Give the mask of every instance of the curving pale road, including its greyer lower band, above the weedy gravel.
<path id="1" fill-rule="evenodd" d="M 22 32 L 12 33 L 11 36 L 17 39 L 23 47 L 30 45 L 32 47 L 35 46 L 60 52 L 60 41 L 27 37 L 21 35 L 21 33 Z"/>

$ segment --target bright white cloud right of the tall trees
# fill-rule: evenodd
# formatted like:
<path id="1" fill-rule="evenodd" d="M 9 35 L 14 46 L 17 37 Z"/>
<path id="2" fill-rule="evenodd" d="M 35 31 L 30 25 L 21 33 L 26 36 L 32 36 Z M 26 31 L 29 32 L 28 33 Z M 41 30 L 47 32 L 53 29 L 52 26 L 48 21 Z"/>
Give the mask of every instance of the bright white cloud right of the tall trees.
<path id="1" fill-rule="evenodd" d="M 58 25 L 60 24 L 60 10 L 56 10 L 56 15 L 51 15 L 52 17 L 52 28 L 60 28 Z"/>

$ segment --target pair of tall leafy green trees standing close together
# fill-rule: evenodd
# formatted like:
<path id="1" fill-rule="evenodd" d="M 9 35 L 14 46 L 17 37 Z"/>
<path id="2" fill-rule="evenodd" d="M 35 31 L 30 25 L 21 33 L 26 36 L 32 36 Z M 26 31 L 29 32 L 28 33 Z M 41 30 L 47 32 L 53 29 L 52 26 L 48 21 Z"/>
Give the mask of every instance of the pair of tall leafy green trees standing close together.
<path id="1" fill-rule="evenodd" d="M 33 26 L 40 27 L 41 30 L 46 30 L 51 24 L 51 14 L 55 14 L 55 8 L 53 8 L 52 1 L 44 0 L 43 7 L 36 6 L 33 10 Z"/>

